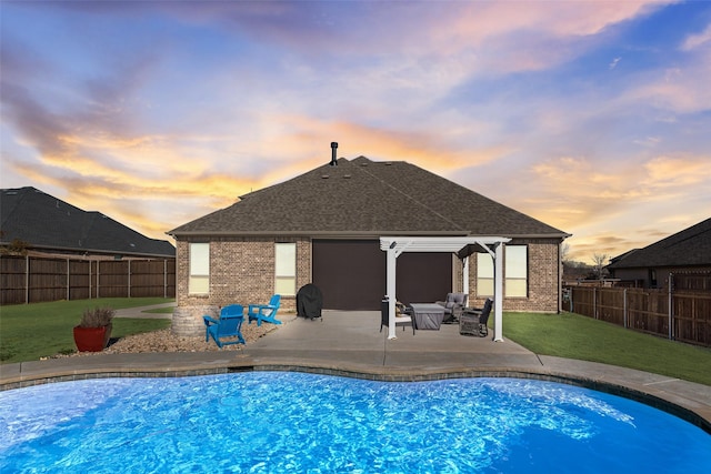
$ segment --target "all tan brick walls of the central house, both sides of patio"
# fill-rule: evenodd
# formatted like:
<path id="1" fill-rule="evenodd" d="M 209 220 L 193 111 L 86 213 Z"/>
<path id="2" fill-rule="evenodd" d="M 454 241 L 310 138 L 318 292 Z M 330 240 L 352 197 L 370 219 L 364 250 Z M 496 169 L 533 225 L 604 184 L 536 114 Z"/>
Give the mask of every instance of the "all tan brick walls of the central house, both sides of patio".
<path id="1" fill-rule="evenodd" d="M 190 271 L 189 240 L 177 242 L 176 286 L 181 314 L 192 314 L 196 321 L 183 322 L 181 327 L 200 327 L 199 310 L 239 303 L 267 302 L 274 293 L 274 243 L 297 243 L 296 291 L 312 280 L 312 246 L 309 238 L 212 238 L 210 240 L 210 292 L 207 295 L 188 293 Z M 193 240 L 204 242 L 204 240 Z M 515 240 L 510 244 L 528 245 L 528 297 L 505 297 L 504 311 L 558 312 L 559 243 L 545 239 Z M 505 252 L 505 246 L 504 246 Z M 504 274 L 505 279 L 505 274 Z M 453 291 L 461 291 L 462 266 L 453 258 Z M 504 281 L 505 286 L 505 281 Z M 505 288 L 504 288 L 505 291 Z M 469 259 L 469 305 L 483 305 L 484 297 L 477 296 L 477 259 Z M 296 295 L 282 295 L 280 311 L 296 311 Z M 198 316 L 194 316 L 194 314 Z M 178 312 L 176 313 L 178 314 Z M 173 320 L 176 320 L 173 315 Z M 199 320 L 199 321 L 198 321 Z M 176 326 L 176 321 L 173 321 Z"/>

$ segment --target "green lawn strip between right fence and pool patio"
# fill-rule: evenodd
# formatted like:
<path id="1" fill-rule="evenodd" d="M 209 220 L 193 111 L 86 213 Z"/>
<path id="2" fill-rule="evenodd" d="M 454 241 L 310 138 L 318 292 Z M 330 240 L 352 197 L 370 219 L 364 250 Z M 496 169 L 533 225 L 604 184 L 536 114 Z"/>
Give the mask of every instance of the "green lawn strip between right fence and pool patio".
<path id="1" fill-rule="evenodd" d="M 574 313 L 504 313 L 503 336 L 540 355 L 602 362 L 711 385 L 711 349 Z"/>

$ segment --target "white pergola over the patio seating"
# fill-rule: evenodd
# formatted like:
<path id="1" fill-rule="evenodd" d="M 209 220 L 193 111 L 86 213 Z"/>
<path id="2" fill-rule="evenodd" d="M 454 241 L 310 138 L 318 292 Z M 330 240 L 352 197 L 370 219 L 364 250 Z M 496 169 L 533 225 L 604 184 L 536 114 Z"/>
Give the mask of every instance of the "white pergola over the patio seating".
<path id="1" fill-rule="evenodd" d="M 382 236 L 380 238 L 380 250 L 388 252 L 388 339 L 395 336 L 395 268 L 398 256 L 403 252 L 449 252 L 457 255 L 464 262 L 463 288 L 469 289 L 469 255 L 475 252 L 477 248 L 487 251 L 494 263 L 494 335 L 493 340 L 503 341 L 501 329 L 502 304 L 503 304 L 503 245 L 511 239 L 502 236 Z"/>

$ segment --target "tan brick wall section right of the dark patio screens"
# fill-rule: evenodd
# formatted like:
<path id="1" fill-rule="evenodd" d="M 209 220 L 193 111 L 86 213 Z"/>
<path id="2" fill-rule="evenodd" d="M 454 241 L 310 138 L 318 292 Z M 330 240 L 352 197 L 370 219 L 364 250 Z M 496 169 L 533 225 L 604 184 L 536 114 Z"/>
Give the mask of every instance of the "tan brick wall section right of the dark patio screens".
<path id="1" fill-rule="evenodd" d="M 509 245 L 528 246 L 528 297 L 505 296 L 504 265 L 504 311 L 557 313 L 559 310 L 560 283 L 562 274 L 559 260 L 559 243 L 547 239 L 517 239 Z M 504 246 L 505 259 L 505 246 Z M 469 301 L 470 305 L 481 307 L 484 296 L 477 296 L 477 258 L 469 258 Z"/>

